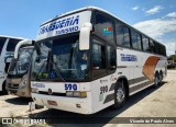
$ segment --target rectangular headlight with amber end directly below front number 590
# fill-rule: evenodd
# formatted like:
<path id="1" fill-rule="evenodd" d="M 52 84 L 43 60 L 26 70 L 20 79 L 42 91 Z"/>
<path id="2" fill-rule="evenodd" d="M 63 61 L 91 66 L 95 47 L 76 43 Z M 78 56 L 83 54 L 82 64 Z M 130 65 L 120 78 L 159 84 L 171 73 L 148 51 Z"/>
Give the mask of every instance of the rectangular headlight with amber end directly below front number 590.
<path id="1" fill-rule="evenodd" d="M 87 93 L 82 91 L 67 91 L 66 96 L 70 97 L 87 97 Z"/>

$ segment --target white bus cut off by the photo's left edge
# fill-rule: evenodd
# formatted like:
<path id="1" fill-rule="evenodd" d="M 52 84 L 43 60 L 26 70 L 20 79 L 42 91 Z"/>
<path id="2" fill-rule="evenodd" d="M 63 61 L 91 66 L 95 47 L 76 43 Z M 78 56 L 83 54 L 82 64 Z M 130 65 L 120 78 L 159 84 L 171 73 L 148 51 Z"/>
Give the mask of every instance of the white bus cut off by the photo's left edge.
<path id="1" fill-rule="evenodd" d="M 7 93 L 6 79 L 16 44 L 25 38 L 0 35 L 0 92 Z"/>

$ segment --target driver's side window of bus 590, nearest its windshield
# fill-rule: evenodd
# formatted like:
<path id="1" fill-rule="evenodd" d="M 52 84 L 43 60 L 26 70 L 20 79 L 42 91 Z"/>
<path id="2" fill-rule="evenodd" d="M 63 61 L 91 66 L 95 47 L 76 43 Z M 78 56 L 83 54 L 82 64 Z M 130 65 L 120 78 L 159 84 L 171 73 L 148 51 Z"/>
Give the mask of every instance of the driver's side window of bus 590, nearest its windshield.
<path id="1" fill-rule="evenodd" d="M 97 41 L 95 41 L 97 42 Z M 94 78 L 106 73 L 106 46 L 92 44 L 92 76 Z"/>

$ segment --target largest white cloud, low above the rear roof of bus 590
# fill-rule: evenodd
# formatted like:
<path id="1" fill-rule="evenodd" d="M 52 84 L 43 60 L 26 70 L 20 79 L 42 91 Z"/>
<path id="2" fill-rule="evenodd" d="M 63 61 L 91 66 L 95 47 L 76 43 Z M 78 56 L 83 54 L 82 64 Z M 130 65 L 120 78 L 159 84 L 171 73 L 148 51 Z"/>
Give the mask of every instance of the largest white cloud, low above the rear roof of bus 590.
<path id="1" fill-rule="evenodd" d="M 154 19 L 135 23 L 133 26 L 164 44 L 168 56 L 175 54 L 176 38 L 164 38 L 163 35 L 176 33 L 176 19 Z"/>

